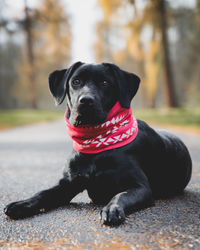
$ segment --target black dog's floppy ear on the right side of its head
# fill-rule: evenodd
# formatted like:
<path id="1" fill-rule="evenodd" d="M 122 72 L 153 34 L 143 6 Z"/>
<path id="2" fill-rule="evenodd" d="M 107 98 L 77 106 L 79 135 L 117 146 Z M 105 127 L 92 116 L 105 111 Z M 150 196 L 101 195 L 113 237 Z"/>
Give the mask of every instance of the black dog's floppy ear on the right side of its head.
<path id="1" fill-rule="evenodd" d="M 119 89 L 119 102 L 123 108 L 129 108 L 131 100 L 137 93 L 140 84 L 140 78 L 127 71 L 120 69 L 112 63 L 103 63 L 108 66 L 114 73 Z"/>

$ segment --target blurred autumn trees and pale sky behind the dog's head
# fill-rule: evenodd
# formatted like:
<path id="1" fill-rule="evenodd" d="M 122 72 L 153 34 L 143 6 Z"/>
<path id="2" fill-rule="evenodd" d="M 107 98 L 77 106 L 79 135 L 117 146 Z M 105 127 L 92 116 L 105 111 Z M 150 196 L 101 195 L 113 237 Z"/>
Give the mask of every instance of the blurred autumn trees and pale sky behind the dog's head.
<path id="1" fill-rule="evenodd" d="M 78 60 L 139 75 L 137 108 L 199 110 L 199 41 L 200 0 L 0 0 L 0 110 L 54 109 L 48 75 Z"/>

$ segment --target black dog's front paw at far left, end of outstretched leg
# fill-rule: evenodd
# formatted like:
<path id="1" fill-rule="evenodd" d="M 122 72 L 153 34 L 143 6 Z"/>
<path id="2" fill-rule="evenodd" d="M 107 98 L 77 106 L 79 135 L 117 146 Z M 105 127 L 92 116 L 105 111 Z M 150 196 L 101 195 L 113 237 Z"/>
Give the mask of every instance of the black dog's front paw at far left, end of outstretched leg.
<path id="1" fill-rule="evenodd" d="M 4 213 L 11 219 L 17 220 L 36 214 L 36 209 L 30 201 L 17 201 L 8 204 L 4 208 Z"/>

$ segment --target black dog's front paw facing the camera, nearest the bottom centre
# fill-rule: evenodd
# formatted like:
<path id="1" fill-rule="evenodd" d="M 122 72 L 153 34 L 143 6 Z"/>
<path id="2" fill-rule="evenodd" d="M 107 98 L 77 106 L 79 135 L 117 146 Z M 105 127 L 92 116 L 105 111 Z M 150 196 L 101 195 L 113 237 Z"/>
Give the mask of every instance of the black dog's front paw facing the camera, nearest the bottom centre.
<path id="1" fill-rule="evenodd" d="M 108 204 L 100 215 L 102 223 L 106 225 L 119 225 L 125 220 L 124 209 L 117 204 Z"/>

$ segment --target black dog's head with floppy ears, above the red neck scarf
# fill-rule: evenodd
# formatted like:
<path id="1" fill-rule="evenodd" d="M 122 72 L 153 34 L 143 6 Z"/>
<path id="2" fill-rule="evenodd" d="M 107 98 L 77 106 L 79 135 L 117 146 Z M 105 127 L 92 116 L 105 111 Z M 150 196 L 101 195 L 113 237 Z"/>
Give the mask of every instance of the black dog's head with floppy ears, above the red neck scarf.
<path id="1" fill-rule="evenodd" d="M 140 79 L 110 63 L 74 63 L 49 75 L 49 88 L 56 104 L 67 96 L 68 120 L 74 125 L 100 124 L 114 104 L 129 108 Z"/>

